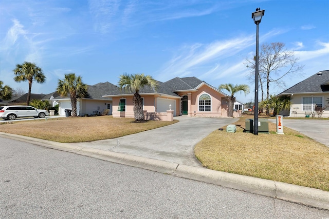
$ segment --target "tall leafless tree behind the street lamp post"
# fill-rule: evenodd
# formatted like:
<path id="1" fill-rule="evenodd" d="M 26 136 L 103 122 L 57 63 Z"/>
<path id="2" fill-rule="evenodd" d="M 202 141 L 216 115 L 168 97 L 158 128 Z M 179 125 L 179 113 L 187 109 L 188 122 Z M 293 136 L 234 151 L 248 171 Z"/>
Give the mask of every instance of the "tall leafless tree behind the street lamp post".
<path id="1" fill-rule="evenodd" d="M 275 83 L 279 87 L 284 87 L 285 82 L 283 77 L 293 75 L 294 73 L 301 75 L 304 66 L 298 64 L 299 58 L 295 57 L 294 51 L 288 51 L 284 43 L 264 43 L 261 46 L 259 55 L 259 78 L 262 89 L 263 101 L 263 86 L 266 86 L 266 99 L 269 98 L 269 86 Z M 248 78 L 254 77 L 255 61 L 254 59 L 246 59 L 247 67 L 251 69 Z M 253 79 L 254 81 L 254 79 Z"/>

